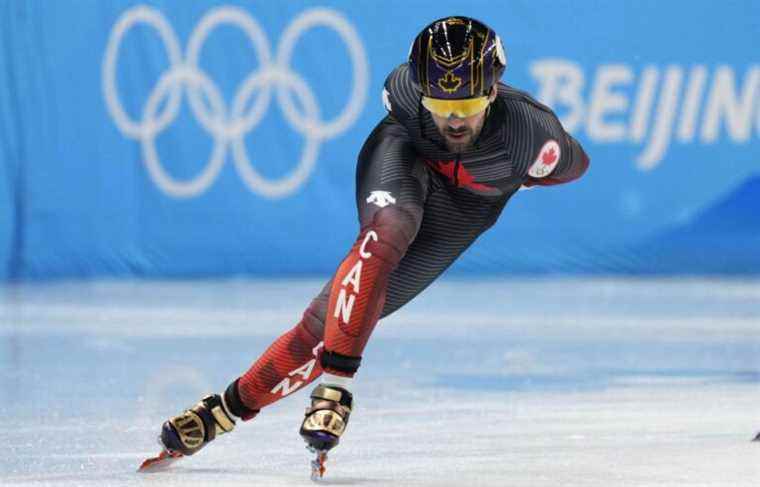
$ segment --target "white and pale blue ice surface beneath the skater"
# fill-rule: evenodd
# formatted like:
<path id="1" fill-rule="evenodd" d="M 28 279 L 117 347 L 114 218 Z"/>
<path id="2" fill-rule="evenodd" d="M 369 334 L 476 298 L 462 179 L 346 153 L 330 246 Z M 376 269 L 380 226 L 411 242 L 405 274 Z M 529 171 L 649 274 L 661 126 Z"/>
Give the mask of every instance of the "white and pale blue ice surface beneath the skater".
<path id="1" fill-rule="evenodd" d="M 297 486 L 308 388 L 170 471 L 316 280 L 0 288 L 3 486 Z M 328 485 L 760 485 L 760 281 L 444 280 L 378 326 Z"/>

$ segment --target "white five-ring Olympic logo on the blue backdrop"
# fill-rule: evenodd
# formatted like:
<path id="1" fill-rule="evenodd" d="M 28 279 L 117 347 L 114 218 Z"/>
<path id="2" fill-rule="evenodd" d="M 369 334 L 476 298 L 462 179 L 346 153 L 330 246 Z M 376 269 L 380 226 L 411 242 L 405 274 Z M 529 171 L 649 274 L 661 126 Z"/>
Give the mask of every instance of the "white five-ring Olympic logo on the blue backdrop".
<path id="1" fill-rule="evenodd" d="M 170 65 L 161 74 L 143 105 L 141 119 L 133 120 L 124 110 L 118 94 L 116 63 L 122 39 L 140 23 L 158 32 Z M 216 83 L 198 65 L 199 53 L 209 34 L 223 24 L 237 27 L 246 35 L 256 51 L 260 66 L 241 83 L 229 109 Z M 290 68 L 298 39 L 315 26 L 328 27 L 338 34 L 348 48 L 353 68 L 353 86 L 348 102 L 343 111 L 330 121 L 321 119 L 314 92 Z M 359 35 L 341 14 L 327 8 L 310 9 L 295 18 L 285 29 L 272 59 L 264 30 L 241 8 L 225 6 L 206 13 L 190 36 L 183 57 L 179 39 L 166 18 L 158 10 L 140 5 L 124 12 L 114 25 L 102 66 L 103 94 L 116 126 L 125 136 L 140 142 L 143 161 L 151 179 L 168 195 L 177 198 L 193 197 L 206 191 L 224 165 L 228 148 L 231 149 L 237 172 L 252 192 L 268 198 L 293 194 L 308 179 L 322 142 L 345 132 L 359 117 L 367 96 L 368 79 L 367 56 Z M 179 114 L 183 88 L 193 115 L 214 141 L 205 168 L 190 180 L 177 180 L 169 175 L 161 165 L 156 150 L 156 137 Z M 306 139 L 298 165 L 278 180 L 266 179 L 254 169 L 245 146 L 245 135 L 264 118 L 272 98 L 272 88 L 276 91 L 277 102 L 287 122 Z M 303 112 L 294 103 L 293 95 L 298 98 Z M 163 110 L 160 110 L 162 106 Z"/>

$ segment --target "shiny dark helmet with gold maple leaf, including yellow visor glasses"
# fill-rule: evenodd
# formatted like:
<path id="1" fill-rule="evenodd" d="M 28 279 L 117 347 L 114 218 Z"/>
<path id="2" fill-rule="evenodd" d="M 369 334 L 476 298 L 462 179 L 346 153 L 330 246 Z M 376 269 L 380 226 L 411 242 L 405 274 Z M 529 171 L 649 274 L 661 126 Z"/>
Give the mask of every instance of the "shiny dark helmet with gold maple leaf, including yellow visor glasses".
<path id="1" fill-rule="evenodd" d="M 491 88 L 507 67 L 501 39 L 470 17 L 446 17 L 417 35 L 409 71 L 433 113 L 470 116 L 488 106 Z"/>

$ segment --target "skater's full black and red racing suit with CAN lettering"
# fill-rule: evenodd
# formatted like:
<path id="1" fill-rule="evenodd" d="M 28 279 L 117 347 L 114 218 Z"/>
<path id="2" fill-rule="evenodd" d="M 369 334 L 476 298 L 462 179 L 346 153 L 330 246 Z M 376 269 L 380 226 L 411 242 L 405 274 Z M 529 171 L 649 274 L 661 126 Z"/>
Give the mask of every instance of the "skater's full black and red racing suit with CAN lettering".
<path id="1" fill-rule="evenodd" d="M 377 320 L 441 275 L 521 186 L 568 182 L 588 167 L 549 108 L 504 84 L 461 154 L 446 149 L 406 65 L 390 74 L 383 97 L 389 114 L 357 164 L 359 235 L 298 325 L 230 386 L 235 414 L 251 417 L 323 369 L 352 376 Z"/>

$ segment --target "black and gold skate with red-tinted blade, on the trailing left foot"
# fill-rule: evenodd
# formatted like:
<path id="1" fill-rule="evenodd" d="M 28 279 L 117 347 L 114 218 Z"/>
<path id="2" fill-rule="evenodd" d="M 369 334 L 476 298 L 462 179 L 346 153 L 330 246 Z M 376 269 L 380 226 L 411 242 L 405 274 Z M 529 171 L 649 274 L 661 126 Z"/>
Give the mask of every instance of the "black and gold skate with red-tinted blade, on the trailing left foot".
<path id="1" fill-rule="evenodd" d="M 218 435 L 235 428 L 218 394 L 206 396 L 182 414 L 164 422 L 159 443 L 163 451 L 140 466 L 140 472 L 163 469 L 186 455 L 193 455 Z"/>

